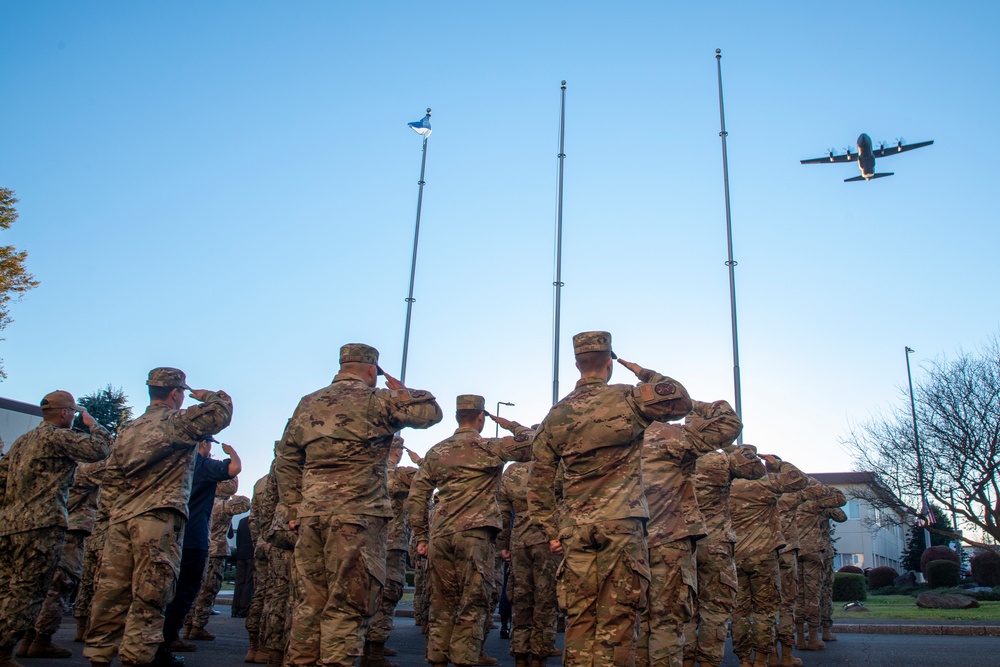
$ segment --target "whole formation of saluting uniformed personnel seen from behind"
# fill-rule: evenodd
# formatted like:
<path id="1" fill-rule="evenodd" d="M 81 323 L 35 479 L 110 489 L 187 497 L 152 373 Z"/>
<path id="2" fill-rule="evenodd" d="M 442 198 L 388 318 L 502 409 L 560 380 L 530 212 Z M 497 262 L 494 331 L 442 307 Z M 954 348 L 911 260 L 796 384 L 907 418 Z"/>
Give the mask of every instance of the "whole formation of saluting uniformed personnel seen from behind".
<path id="1" fill-rule="evenodd" d="M 516 667 L 559 655 L 560 614 L 573 666 L 718 666 L 730 631 L 741 667 L 789 666 L 802 664 L 793 648 L 834 640 L 829 522 L 846 519 L 843 494 L 735 445 L 727 402 L 619 359 L 609 333 L 573 346 L 580 380 L 540 424 L 464 394 L 455 433 L 404 467 L 399 432 L 439 423 L 441 406 L 385 374 L 375 348 L 344 345 L 252 500 L 234 495 L 232 447 L 209 458 L 232 419 L 225 392 L 154 369 L 149 408 L 114 439 L 49 394 L 42 424 L 0 459 L 0 667 L 20 667 L 18 642 L 19 657 L 71 655 L 51 639 L 74 593 L 92 667 L 183 665 L 185 640 L 214 638 L 225 533 L 247 509 L 249 663 L 395 667 L 407 560 L 433 667 L 497 663 L 483 646 L 501 562 Z M 639 382 L 611 384 L 615 361 Z M 181 409 L 185 392 L 199 403 Z M 70 428 L 75 412 L 89 433 Z M 511 435 L 483 437 L 487 417 Z"/>

